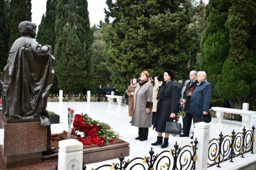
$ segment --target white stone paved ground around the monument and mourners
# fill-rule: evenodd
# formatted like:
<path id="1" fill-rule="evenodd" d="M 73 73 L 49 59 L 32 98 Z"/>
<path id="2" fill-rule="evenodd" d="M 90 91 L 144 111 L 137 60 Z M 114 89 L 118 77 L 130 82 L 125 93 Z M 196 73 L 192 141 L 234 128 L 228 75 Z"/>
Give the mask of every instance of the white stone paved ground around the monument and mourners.
<path id="1" fill-rule="evenodd" d="M 120 135 L 120 138 L 130 143 L 130 156 L 125 157 L 127 159 L 133 159 L 136 157 L 149 156 L 148 151 L 151 147 L 156 153 L 163 151 L 160 146 L 151 146 L 152 142 L 156 141 L 156 131 L 150 128 L 147 141 L 138 141 L 134 138 L 138 136 L 138 128 L 131 126 L 129 123 L 131 118 L 128 116 L 128 106 L 125 104 L 118 105 L 117 103 L 109 104 L 108 102 L 64 102 L 64 103 L 48 103 L 47 110 L 53 111 L 60 115 L 60 124 L 53 124 L 51 129 L 52 133 L 60 133 L 63 130 L 67 130 L 67 108 L 74 109 L 75 113 L 87 113 L 94 120 L 105 122 L 109 124 L 115 132 Z M 238 133 L 242 131 L 241 122 L 224 120 L 222 124 L 217 122 L 217 118 L 213 118 L 210 123 L 210 139 L 218 138 L 218 134 L 230 135 L 233 129 Z M 191 128 L 192 135 L 193 128 Z M 169 146 L 164 150 L 170 150 L 174 148 L 175 142 L 179 146 L 191 145 L 192 139 L 190 137 L 172 137 L 169 139 Z M 1 143 L 1 142 L 0 142 Z M 246 159 L 246 158 L 244 158 Z M 97 168 L 100 165 L 119 163 L 118 159 L 107 160 L 104 162 L 98 162 L 86 165 L 87 169 Z M 108 168 L 109 169 L 109 168 Z M 212 168 L 211 168 L 212 169 Z M 220 169 L 220 168 L 218 168 Z"/>

